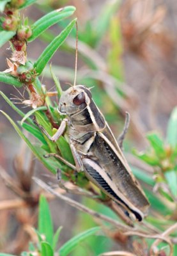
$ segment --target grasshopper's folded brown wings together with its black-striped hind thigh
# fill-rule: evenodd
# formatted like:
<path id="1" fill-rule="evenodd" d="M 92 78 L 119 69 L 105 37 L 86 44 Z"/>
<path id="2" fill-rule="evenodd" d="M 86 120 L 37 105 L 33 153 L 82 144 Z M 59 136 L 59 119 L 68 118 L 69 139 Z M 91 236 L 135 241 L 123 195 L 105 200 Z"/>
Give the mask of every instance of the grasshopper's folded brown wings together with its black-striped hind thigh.
<path id="1" fill-rule="evenodd" d="M 138 220 L 142 220 L 150 203 L 108 125 L 104 131 L 96 132 L 89 151 L 94 158 L 83 161 L 89 179 L 113 200 L 131 211 Z"/>

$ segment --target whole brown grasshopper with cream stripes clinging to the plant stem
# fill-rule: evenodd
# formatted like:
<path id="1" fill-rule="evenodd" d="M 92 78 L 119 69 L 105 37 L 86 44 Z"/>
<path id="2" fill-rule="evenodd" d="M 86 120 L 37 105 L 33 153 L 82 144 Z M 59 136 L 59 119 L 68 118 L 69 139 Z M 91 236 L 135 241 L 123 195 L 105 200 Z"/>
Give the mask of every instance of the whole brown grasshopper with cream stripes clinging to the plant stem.
<path id="1" fill-rule="evenodd" d="M 62 120 L 58 131 L 51 137 L 41 125 L 36 122 L 35 124 L 52 141 L 57 141 L 68 127 L 68 138 L 77 172 L 84 172 L 93 184 L 121 205 L 130 218 L 141 221 L 150 204 L 121 151 L 128 125 L 125 124 L 118 143 L 104 115 L 93 101 L 89 88 L 75 85 L 76 72 L 77 51 L 73 86 L 63 92 L 59 99 L 58 111 L 61 115 L 66 115 L 66 118 Z M 60 156 L 59 159 L 71 166 Z"/>

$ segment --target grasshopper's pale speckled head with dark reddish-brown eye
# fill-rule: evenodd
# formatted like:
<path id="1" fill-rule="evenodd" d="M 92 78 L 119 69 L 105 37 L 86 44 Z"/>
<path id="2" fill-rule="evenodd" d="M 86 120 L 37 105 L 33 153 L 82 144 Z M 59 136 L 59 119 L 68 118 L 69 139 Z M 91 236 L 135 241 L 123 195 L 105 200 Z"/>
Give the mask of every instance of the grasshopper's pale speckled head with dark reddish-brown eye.
<path id="1" fill-rule="evenodd" d="M 70 87 L 59 99 L 58 110 L 63 115 L 74 115 L 91 102 L 91 92 L 83 85 Z"/>

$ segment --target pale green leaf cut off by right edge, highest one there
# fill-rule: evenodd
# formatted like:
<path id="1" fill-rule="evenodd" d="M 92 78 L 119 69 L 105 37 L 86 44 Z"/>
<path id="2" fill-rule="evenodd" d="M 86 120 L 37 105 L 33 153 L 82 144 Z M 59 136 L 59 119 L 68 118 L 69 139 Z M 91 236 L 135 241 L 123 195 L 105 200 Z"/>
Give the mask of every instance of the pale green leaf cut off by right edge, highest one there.
<path id="1" fill-rule="evenodd" d="M 175 147 L 177 145 L 177 107 L 173 109 L 167 126 L 167 142 Z"/>

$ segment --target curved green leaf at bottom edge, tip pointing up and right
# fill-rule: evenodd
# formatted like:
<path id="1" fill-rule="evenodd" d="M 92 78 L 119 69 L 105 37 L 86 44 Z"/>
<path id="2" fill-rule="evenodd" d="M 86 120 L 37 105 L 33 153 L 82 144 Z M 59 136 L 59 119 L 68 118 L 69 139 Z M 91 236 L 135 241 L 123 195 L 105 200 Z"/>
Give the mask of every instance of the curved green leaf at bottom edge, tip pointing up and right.
<path id="1" fill-rule="evenodd" d="M 100 229 L 101 229 L 100 227 L 90 228 L 82 232 L 81 234 L 72 237 L 72 239 L 68 240 L 65 244 L 63 244 L 63 246 L 61 246 L 61 248 L 59 249 L 59 255 L 60 256 L 68 255 L 70 252 L 74 250 L 76 246 L 79 245 L 79 243 L 87 239 L 89 236 L 93 236 Z"/>

